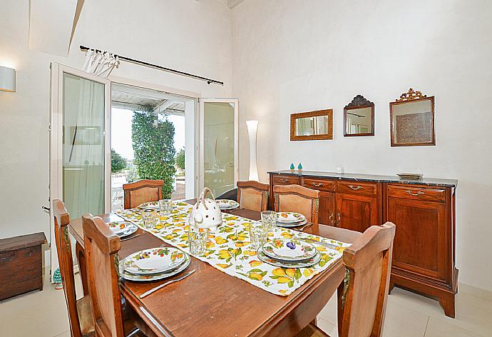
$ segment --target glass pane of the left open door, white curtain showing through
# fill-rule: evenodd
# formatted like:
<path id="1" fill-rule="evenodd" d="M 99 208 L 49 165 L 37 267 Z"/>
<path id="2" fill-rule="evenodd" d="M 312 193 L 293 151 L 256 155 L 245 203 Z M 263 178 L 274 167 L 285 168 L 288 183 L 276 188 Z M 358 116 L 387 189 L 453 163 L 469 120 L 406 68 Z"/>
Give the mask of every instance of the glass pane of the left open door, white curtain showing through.
<path id="1" fill-rule="evenodd" d="M 104 213 L 104 84 L 63 73 L 63 201 L 71 218 Z"/>

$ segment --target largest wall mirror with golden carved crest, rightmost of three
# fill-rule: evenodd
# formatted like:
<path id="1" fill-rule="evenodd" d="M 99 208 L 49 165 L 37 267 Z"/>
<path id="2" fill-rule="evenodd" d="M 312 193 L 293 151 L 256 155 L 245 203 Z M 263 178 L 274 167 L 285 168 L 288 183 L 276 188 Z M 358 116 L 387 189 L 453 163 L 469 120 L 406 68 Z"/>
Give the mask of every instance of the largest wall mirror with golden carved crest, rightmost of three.
<path id="1" fill-rule="evenodd" d="M 391 146 L 436 145 L 434 96 L 409 89 L 389 104 Z"/>

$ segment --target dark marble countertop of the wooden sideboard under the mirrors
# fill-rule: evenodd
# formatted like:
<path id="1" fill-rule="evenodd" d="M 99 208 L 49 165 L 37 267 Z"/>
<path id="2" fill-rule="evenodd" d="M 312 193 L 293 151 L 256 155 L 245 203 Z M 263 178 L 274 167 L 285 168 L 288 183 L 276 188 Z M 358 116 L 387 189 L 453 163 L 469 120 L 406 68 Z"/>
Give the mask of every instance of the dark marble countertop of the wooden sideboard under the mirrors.
<path id="1" fill-rule="evenodd" d="M 375 174 L 358 174 L 358 173 L 335 173 L 335 172 L 318 172 L 318 171 L 268 171 L 267 173 L 283 174 L 287 176 L 304 176 L 311 178 L 329 178 L 338 180 L 352 181 L 374 181 L 378 183 L 408 183 L 411 185 L 427 185 L 439 187 L 456 187 L 456 179 L 439 179 L 439 178 L 421 178 L 421 179 L 402 179 L 399 176 L 377 176 Z"/>

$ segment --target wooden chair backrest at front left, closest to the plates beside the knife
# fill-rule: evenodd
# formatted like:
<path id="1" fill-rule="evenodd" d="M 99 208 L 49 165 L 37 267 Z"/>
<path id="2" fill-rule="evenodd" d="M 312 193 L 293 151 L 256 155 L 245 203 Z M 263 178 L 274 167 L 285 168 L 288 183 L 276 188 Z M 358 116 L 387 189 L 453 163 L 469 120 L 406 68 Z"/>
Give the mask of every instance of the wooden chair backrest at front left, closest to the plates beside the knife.
<path id="1" fill-rule="evenodd" d="M 121 293 L 116 271 L 120 238 L 103 219 L 91 214 L 82 216 L 82 226 L 96 336 L 123 337 Z"/>

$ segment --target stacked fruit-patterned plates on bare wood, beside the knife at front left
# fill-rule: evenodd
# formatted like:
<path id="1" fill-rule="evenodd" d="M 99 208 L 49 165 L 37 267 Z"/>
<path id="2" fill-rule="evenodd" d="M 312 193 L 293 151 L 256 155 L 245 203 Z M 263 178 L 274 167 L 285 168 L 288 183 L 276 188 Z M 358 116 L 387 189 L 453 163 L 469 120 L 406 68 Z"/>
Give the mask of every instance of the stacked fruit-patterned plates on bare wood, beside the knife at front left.
<path id="1" fill-rule="evenodd" d="M 121 261 L 120 274 L 129 281 L 157 281 L 184 271 L 190 261 L 190 256 L 178 248 L 149 248 Z"/>

